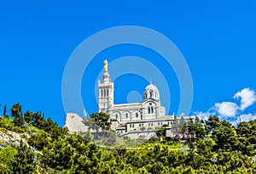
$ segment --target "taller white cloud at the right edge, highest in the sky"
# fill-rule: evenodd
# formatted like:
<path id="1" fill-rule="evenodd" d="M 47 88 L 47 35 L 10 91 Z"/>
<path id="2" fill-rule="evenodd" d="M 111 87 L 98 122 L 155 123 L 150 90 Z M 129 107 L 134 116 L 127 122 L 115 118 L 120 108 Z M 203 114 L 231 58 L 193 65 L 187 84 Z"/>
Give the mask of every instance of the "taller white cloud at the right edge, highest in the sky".
<path id="1" fill-rule="evenodd" d="M 255 92 L 249 87 L 244 88 L 240 92 L 236 93 L 233 98 L 241 98 L 240 109 L 242 111 L 247 109 L 247 107 L 251 106 L 256 101 Z"/>

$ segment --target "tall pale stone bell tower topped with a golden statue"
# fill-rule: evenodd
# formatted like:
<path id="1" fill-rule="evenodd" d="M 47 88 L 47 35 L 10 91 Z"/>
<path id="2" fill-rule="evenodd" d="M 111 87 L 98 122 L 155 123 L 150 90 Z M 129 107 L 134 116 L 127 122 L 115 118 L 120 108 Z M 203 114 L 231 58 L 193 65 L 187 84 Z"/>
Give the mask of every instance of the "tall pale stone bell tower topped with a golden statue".
<path id="1" fill-rule="evenodd" d="M 108 60 L 104 60 L 104 74 L 102 83 L 98 81 L 98 112 L 105 112 L 108 114 L 108 109 L 113 106 L 113 82 L 108 74 Z"/>

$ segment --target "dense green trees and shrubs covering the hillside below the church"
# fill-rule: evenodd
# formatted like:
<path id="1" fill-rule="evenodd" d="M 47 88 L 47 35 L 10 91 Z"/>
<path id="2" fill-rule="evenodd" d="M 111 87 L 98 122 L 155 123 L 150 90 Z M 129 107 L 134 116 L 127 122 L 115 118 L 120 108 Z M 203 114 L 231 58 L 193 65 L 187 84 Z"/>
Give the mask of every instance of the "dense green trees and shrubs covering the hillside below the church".
<path id="1" fill-rule="evenodd" d="M 0 142 L 0 173 L 256 173 L 256 121 L 236 127 L 217 116 L 189 124 L 174 121 L 178 132 L 189 138 L 165 138 L 163 126 L 158 137 L 133 149 L 105 149 L 90 141 L 88 133 L 69 134 L 40 112 L 23 115 L 15 104 L 9 118 L 4 108 L 0 132 L 18 132 L 26 142 Z M 108 129 L 104 118 L 92 115 Z"/>

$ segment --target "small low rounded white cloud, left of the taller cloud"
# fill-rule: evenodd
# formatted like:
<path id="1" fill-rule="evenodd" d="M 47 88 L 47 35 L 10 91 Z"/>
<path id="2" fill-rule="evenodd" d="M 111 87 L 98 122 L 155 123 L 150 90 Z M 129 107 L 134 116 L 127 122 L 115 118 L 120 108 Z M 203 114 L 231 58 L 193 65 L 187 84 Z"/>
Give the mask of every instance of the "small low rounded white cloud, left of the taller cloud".
<path id="1" fill-rule="evenodd" d="M 221 104 L 215 104 L 215 109 L 220 116 L 233 117 L 236 116 L 239 107 L 235 103 L 223 102 Z"/>

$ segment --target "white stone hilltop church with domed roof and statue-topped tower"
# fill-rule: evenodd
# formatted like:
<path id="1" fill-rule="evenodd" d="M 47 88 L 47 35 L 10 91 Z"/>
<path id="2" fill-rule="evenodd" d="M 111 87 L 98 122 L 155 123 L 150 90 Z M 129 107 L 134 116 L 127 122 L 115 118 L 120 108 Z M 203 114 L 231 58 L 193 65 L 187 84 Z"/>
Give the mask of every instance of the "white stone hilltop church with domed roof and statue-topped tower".
<path id="1" fill-rule="evenodd" d="M 134 138 L 146 132 L 146 137 L 150 137 L 160 126 L 172 127 L 175 116 L 166 115 L 166 109 L 160 103 L 159 90 L 153 84 L 145 87 L 141 103 L 114 104 L 114 84 L 108 74 L 108 61 L 105 60 L 102 81 L 98 81 L 97 87 L 98 112 L 110 115 L 111 129 L 119 136 Z M 183 118 L 189 120 L 191 116 Z"/>

